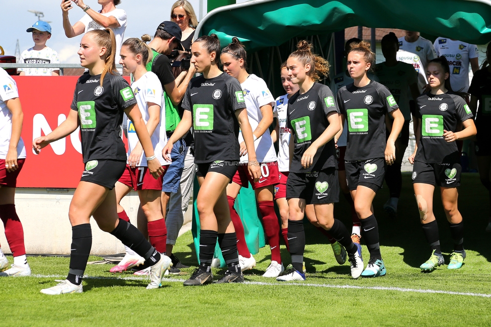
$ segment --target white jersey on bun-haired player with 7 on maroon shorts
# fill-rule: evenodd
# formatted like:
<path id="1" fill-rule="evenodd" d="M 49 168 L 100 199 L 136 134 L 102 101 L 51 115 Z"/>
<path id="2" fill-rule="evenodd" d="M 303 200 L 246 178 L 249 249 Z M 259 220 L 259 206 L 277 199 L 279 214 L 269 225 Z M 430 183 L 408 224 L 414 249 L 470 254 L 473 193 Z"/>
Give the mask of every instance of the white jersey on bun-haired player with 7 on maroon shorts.
<path id="1" fill-rule="evenodd" d="M 143 118 L 145 124 L 150 118 L 148 114 L 148 103 L 154 103 L 160 106 L 160 121 L 155 128 L 155 131 L 150 136 L 150 139 L 152 140 L 153 149 L 158 161 L 160 161 L 160 164 L 162 166 L 169 165 L 170 162 L 166 161 L 162 157 L 162 148 L 167 144 L 167 133 L 166 110 L 164 107 L 165 105 L 163 104 L 163 91 L 160 80 L 155 73 L 147 71 L 143 76 L 131 84 L 131 89 L 133 89 L 138 108 L 140 109 L 141 117 Z M 136 135 L 133 123 L 126 115 L 125 119 L 128 129 L 128 155 L 130 155 L 131 151 L 138 143 L 138 136 Z M 147 166 L 144 152 L 141 154 L 140 163 L 138 166 Z"/>

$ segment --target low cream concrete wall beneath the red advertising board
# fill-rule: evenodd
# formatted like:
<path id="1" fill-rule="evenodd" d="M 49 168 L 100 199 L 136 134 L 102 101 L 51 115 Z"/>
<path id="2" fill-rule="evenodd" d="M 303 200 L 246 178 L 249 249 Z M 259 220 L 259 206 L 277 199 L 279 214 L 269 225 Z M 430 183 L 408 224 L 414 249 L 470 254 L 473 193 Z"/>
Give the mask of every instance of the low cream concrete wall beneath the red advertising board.
<path id="1" fill-rule="evenodd" d="M 68 220 L 68 207 L 74 189 L 24 189 L 16 190 L 16 209 L 24 227 L 24 242 L 27 254 L 69 255 L 71 244 L 71 225 Z M 130 221 L 136 225 L 136 214 L 140 201 L 135 191 L 131 191 L 121 201 Z M 192 205 L 185 216 L 185 223 L 191 221 Z M 2 225 L 2 224 L 0 224 Z M 124 253 L 124 246 L 113 235 L 103 232 L 92 218 L 92 251 L 94 255 Z M 0 228 L 2 251 L 10 254 L 3 225 Z"/>

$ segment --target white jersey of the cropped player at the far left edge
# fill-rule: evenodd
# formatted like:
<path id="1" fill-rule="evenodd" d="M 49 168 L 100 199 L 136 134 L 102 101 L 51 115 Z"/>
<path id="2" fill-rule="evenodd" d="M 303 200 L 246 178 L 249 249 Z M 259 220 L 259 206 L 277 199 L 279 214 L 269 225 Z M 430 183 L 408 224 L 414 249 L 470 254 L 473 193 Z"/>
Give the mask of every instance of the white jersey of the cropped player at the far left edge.
<path id="1" fill-rule="evenodd" d="M 0 68 L 0 159 L 4 159 L 9 152 L 10 138 L 12 136 L 12 113 L 5 101 L 19 97 L 17 84 L 4 68 Z M 22 137 L 17 144 L 17 158 L 26 157 L 26 147 Z"/>

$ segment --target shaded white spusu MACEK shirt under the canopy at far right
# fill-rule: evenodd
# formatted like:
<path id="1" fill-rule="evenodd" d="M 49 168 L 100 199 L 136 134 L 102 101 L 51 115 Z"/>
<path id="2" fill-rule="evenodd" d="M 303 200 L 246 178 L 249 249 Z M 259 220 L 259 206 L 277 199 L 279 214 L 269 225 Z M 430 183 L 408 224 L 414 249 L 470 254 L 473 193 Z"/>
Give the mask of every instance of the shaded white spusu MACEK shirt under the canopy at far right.
<path id="1" fill-rule="evenodd" d="M 445 56 L 450 67 L 450 85 L 452 90 L 469 90 L 469 63 L 472 73 L 479 69 L 479 50 L 475 44 L 438 37 L 433 43 L 437 56 Z"/>

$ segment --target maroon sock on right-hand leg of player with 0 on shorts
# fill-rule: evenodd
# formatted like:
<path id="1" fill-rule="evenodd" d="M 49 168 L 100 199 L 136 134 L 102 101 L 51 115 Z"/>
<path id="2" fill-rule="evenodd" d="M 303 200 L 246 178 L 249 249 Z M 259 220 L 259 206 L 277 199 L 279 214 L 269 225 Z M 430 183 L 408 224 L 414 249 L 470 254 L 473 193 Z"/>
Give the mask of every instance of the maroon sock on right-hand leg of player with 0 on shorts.
<path id="1" fill-rule="evenodd" d="M 263 227 L 271 249 L 271 260 L 281 264 L 280 224 L 273 201 L 258 201 L 259 211 L 263 216 Z"/>

